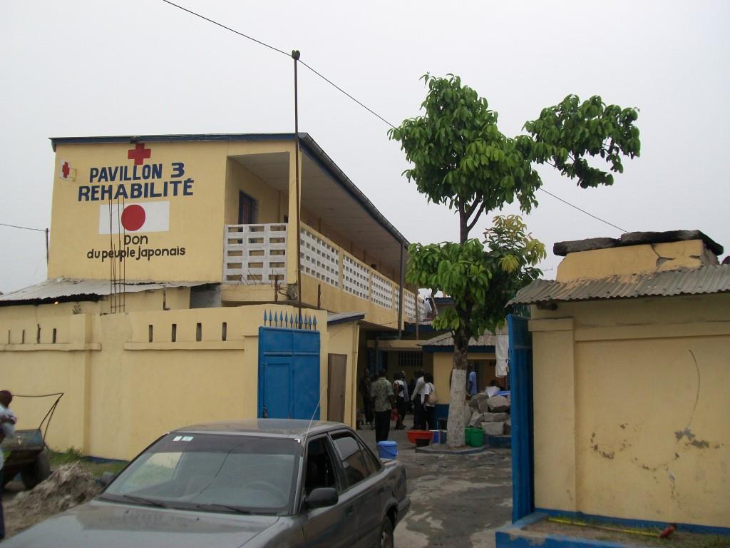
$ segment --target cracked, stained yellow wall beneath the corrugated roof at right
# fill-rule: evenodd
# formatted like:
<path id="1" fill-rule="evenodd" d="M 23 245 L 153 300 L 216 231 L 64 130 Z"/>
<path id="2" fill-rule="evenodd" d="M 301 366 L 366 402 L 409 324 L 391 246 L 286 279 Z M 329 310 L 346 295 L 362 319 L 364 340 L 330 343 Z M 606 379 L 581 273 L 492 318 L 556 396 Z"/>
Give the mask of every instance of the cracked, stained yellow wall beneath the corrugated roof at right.
<path id="1" fill-rule="evenodd" d="M 535 506 L 730 526 L 730 294 L 532 316 Z"/>

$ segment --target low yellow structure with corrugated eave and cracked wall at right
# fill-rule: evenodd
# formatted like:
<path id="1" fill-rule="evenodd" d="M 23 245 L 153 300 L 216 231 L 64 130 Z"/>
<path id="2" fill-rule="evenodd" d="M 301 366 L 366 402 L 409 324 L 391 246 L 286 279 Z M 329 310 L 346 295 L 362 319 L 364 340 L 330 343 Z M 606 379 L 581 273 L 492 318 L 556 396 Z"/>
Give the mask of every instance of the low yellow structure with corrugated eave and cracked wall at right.
<path id="1" fill-rule="evenodd" d="M 512 301 L 531 305 L 533 359 L 529 387 L 515 393 L 512 379 L 515 518 L 538 509 L 730 532 L 723 248 L 676 231 L 558 243 L 555 252 L 565 257 L 556 280 L 534 281 Z M 524 411 L 529 389 L 534 448 L 526 436 L 515 449 L 515 429 L 529 430 L 515 406 Z"/>

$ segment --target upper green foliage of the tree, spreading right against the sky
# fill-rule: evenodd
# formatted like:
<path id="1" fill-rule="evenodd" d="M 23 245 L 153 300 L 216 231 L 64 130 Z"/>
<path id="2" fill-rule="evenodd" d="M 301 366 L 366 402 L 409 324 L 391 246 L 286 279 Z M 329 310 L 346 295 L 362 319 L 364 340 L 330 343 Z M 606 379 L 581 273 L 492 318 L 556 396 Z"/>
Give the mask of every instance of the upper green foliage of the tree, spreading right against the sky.
<path id="1" fill-rule="evenodd" d="M 461 243 L 485 211 L 518 200 L 524 213 L 537 205 L 542 179 L 534 164 L 550 164 L 577 178 L 583 188 L 610 185 L 613 176 L 591 167 L 586 156 L 600 157 L 613 172 L 623 172 L 621 155 L 639 156 L 641 143 L 635 108 L 606 105 L 600 96 L 581 103 L 575 95 L 542 110 L 523 126 L 527 134 L 507 137 L 485 98 L 461 85 L 461 78 L 424 75 L 429 92 L 421 104 L 426 115 L 391 129 L 412 167 L 404 175 L 430 201 L 459 214 Z"/>

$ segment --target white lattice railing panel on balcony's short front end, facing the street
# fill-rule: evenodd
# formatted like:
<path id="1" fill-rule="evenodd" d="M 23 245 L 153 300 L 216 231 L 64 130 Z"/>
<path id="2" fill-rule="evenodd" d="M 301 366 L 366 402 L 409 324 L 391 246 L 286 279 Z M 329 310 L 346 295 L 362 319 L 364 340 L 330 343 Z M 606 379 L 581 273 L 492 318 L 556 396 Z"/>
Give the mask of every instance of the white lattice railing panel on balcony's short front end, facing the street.
<path id="1" fill-rule="evenodd" d="M 227 224 L 223 283 L 286 282 L 286 224 Z"/>

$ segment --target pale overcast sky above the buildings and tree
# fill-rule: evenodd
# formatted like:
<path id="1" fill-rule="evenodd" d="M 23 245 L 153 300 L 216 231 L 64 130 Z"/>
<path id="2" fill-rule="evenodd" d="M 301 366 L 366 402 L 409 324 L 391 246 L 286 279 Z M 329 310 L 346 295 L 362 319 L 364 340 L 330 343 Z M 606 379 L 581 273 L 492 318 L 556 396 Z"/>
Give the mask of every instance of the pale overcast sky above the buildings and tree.
<path id="1" fill-rule="evenodd" d="M 418 115 L 424 72 L 460 75 L 508 135 L 567 94 L 638 107 L 642 156 L 613 186 L 583 190 L 546 168 L 545 189 L 627 231 L 700 229 L 730 246 L 730 2 L 179 3 L 301 50 L 396 125 Z M 50 226 L 48 137 L 293 132 L 291 58 L 163 1 L 3 1 L 0 48 L 0 223 Z M 458 238 L 453 213 L 401 176 L 385 123 L 307 69 L 299 90 L 300 131 L 410 241 Z M 548 246 L 545 277 L 556 241 L 621 234 L 538 198 L 526 221 Z M 45 279 L 41 232 L 0 227 L 0 242 L 0 292 Z"/>

